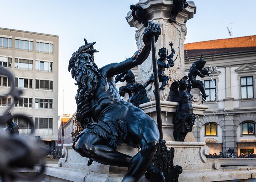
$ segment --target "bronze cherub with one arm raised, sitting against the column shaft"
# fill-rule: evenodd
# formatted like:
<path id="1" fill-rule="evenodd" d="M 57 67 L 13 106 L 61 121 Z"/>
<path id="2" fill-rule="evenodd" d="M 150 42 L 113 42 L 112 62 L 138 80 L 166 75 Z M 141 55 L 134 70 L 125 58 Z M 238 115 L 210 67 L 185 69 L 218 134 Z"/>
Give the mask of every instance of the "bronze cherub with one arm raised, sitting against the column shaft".
<path id="1" fill-rule="evenodd" d="M 165 75 L 165 68 L 170 68 L 174 66 L 175 60 L 173 60 L 173 56 L 175 54 L 175 50 L 172 47 L 173 46 L 172 42 L 169 45 L 171 46 L 171 50 L 172 50 L 172 53 L 170 55 L 168 55 L 168 50 L 165 47 L 159 49 L 159 52 L 158 52 L 158 55 L 159 55 L 159 59 L 157 60 L 158 79 L 159 79 L 159 82 L 162 82 L 162 85 L 159 88 L 160 90 L 165 90 L 164 87 L 166 86 L 170 78 L 169 76 Z M 167 64 L 165 62 L 166 60 L 168 61 Z M 153 82 L 154 82 L 154 76 L 152 74 L 144 84 L 144 87 L 147 87 L 150 83 L 153 83 Z"/>

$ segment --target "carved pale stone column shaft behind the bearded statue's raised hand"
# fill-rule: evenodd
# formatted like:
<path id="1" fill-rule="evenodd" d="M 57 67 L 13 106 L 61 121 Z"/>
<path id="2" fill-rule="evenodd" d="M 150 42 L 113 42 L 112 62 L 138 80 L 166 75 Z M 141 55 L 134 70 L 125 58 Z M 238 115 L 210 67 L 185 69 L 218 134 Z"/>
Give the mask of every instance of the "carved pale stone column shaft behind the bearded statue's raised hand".
<path id="1" fill-rule="evenodd" d="M 170 76 L 170 87 L 170 83 L 172 83 L 173 80 L 178 80 L 185 75 L 184 40 L 185 35 L 187 34 L 187 27 L 185 22 L 191 19 L 196 13 L 196 6 L 193 1 L 188 1 L 188 7 L 183 9 L 181 13 L 178 13 L 176 18 L 177 22 L 170 23 L 170 14 L 172 12 L 172 9 L 174 8 L 172 0 L 140 0 L 139 3 L 137 3 L 136 5 L 140 5 L 144 9 L 148 21 L 152 20 L 153 22 L 158 23 L 162 26 L 162 33 L 156 43 L 157 51 L 162 47 L 166 47 L 170 54 L 171 50 L 169 42 L 172 41 L 174 43 L 173 48 L 176 50 L 174 59 L 177 55 L 178 58 L 174 62 L 174 67 L 166 69 L 165 71 L 165 74 Z M 135 39 L 138 48 L 140 48 L 143 44 L 143 24 L 139 24 L 138 21 L 134 21 L 132 11 L 128 12 L 126 19 L 131 27 L 137 28 L 135 33 Z M 152 57 L 150 54 L 150 56 L 148 56 L 148 59 L 142 65 L 138 66 L 137 82 L 144 84 L 146 80 L 150 77 L 152 72 Z M 150 88 L 147 89 L 147 91 L 149 90 Z M 169 94 L 169 88 L 165 87 L 165 94 L 163 94 L 165 96 L 163 96 L 163 100 L 166 99 L 166 94 Z"/>

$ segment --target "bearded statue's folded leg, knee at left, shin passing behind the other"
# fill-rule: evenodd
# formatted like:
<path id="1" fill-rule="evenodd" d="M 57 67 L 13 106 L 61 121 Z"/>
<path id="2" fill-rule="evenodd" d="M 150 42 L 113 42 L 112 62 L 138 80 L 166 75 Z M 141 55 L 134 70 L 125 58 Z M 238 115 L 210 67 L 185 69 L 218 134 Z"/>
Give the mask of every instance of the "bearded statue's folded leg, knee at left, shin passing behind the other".
<path id="1" fill-rule="evenodd" d="M 84 133 L 76 142 L 75 151 L 82 157 L 93 159 L 105 165 L 119 167 L 128 167 L 132 158 L 108 146 L 102 138 L 94 133 Z"/>

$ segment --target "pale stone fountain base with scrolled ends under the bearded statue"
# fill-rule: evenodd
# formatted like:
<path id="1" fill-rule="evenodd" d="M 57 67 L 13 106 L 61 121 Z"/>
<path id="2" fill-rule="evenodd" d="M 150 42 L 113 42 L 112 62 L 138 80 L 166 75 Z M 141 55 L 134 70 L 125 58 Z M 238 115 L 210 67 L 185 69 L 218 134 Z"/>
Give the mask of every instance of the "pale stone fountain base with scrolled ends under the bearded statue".
<path id="1" fill-rule="evenodd" d="M 45 170 L 44 182 L 120 182 L 127 168 L 102 165 L 93 162 L 87 166 L 88 158 L 81 157 L 72 149 L 72 144 L 64 144 L 62 154 L 64 159 L 59 159 L 59 166 L 48 164 Z M 208 159 L 205 155 L 210 152 L 204 142 L 166 142 L 168 149 L 173 147 L 174 166 L 182 167 L 183 172 L 178 182 L 206 182 L 206 181 L 231 181 L 232 179 L 256 178 L 256 166 L 220 167 L 218 159 Z M 118 146 L 118 151 L 128 155 L 135 155 L 138 149 L 127 145 Z M 37 173 L 34 170 L 18 171 L 20 173 Z M 139 182 L 147 182 L 142 176 Z"/>

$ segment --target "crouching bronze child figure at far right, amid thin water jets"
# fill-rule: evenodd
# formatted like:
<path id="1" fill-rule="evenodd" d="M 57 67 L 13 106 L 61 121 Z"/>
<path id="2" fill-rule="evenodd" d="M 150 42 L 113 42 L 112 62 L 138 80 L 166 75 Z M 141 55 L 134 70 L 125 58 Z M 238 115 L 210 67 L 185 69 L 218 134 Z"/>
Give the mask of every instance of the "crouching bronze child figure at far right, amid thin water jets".
<path id="1" fill-rule="evenodd" d="M 202 92 L 203 101 L 209 95 L 206 95 L 205 93 L 204 83 L 200 80 L 196 80 L 196 76 L 198 75 L 201 78 L 204 78 L 204 76 L 206 75 L 209 76 L 210 73 L 206 68 L 204 68 L 205 64 L 206 64 L 206 61 L 202 59 L 202 54 L 201 54 L 200 59 L 192 63 L 192 66 L 189 68 L 189 72 L 188 72 L 188 78 L 192 88 L 199 88 L 199 90 Z"/>

